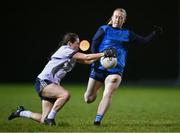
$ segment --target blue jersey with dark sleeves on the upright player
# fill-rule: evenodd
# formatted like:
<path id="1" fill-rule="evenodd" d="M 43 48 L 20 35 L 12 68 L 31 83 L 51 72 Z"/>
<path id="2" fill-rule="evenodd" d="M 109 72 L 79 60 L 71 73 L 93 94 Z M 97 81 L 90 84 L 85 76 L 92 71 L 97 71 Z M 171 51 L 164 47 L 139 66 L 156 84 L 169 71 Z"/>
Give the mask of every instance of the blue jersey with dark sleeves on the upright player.
<path id="1" fill-rule="evenodd" d="M 118 63 L 117 66 L 112 69 L 105 69 L 98 62 L 92 64 L 92 67 L 108 71 L 109 73 L 123 73 L 126 65 L 128 47 L 131 43 L 148 43 L 154 36 L 154 31 L 148 36 L 142 37 L 128 29 L 113 28 L 109 25 L 101 26 L 93 37 L 91 51 L 97 53 L 102 52 L 107 48 L 115 48 L 117 50 Z"/>

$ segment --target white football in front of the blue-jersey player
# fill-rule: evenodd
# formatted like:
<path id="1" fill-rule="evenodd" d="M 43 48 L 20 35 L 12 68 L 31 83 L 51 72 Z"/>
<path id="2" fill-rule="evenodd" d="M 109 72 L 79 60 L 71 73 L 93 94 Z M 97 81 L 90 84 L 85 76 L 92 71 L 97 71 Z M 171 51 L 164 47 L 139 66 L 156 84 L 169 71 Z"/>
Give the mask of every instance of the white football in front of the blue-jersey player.
<path id="1" fill-rule="evenodd" d="M 115 58 L 115 57 L 101 57 L 100 62 L 104 68 L 111 69 L 113 67 L 116 67 L 117 58 Z"/>

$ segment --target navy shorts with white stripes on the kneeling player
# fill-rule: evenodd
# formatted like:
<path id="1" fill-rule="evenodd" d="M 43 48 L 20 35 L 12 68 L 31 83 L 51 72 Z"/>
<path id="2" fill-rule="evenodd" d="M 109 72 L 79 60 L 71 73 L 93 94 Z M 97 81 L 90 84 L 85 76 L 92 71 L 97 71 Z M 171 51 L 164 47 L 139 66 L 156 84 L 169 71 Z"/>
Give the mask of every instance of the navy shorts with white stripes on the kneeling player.
<path id="1" fill-rule="evenodd" d="M 41 79 L 37 78 L 36 82 L 35 82 L 35 89 L 36 89 L 36 92 L 38 93 L 39 97 L 41 98 L 41 100 L 46 100 L 51 103 L 54 103 L 56 101 L 55 98 L 49 98 L 49 97 L 42 96 L 42 90 L 44 89 L 44 87 L 46 87 L 49 84 L 52 84 L 52 82 L 49 80 L 41 80 Z"/>

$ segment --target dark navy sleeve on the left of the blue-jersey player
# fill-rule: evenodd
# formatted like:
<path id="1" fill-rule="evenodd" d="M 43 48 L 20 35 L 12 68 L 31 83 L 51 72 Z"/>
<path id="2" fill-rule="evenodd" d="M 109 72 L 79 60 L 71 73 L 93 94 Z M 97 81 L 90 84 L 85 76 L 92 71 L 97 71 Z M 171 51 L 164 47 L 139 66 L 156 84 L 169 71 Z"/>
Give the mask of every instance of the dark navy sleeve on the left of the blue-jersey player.
<path id="1" fill-rule="evenodd" d="M 92 39 L 92 44 L 91 44 L 91 52 L 92 53 L 98 53 L 98 47 L 104 37 L 104 34 L 105 34 L 105 32 L 104 32 L 103 28 L 101 28 L 101 27 L 95 33 L 95 35 Z"/>

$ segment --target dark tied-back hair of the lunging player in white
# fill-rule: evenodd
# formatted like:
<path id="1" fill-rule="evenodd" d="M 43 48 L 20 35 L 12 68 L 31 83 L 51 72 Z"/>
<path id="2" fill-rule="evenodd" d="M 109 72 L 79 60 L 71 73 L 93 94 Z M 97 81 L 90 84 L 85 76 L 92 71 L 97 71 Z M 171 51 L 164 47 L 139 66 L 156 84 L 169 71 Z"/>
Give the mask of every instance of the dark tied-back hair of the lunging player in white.
<path id="1" fill-rule="evenodd" d="M 59 43 L 59 45 L 67 45 L 67 43 L 70 41 L 71 43 L 74 43 L 76 39 L 79 38 L 79 36 L 75 33 L 66 33 L 63 37 L 63 40 Z"/>

